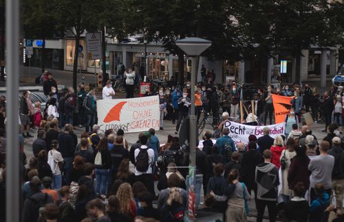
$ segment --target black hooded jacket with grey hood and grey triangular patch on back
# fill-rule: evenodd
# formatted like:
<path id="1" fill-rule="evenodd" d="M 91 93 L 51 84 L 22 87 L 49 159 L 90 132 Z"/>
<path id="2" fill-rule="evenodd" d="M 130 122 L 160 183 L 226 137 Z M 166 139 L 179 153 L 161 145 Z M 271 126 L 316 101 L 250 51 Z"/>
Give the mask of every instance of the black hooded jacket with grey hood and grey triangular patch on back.
<path id="1" fill-rule="evenodd" d="M 256 167 L 255 182 L 257 183 L 257 199 L 277 201 L 279 173 L 274 164 L 270 162 L 259 164 Z"/>

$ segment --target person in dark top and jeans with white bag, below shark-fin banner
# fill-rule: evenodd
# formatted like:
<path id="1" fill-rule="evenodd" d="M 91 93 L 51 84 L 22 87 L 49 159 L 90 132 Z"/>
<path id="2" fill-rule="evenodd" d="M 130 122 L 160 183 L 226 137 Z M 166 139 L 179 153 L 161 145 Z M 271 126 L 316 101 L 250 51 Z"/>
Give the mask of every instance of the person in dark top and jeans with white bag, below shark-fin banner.
<path id="1" fill-rule="evenodd" d="M 105 195 L 111 167 L 111 154 L 109 149 L 107 149 L 107 137 L 105 136 L 100 139 L 94 151 L 94 166 L 96 167 L 96 193 Z"/>

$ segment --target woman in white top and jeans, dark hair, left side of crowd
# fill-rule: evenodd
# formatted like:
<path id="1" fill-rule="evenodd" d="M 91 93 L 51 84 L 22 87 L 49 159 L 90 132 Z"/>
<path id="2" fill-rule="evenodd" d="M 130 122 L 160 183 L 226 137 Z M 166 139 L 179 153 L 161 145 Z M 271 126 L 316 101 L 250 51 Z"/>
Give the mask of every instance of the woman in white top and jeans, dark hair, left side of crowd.
<path id="1" fill-rule="evenodd" d="M 62 173 L 61 168 L 63 164 L 63 156 L 58 149 L 58 141 L 52 140 L 52 146 L 49 153 L 47 153 L 47 163 L 50 165 L 52 169 L 52 188 L 53 189 L 61 189 L 62 185 Z"/>

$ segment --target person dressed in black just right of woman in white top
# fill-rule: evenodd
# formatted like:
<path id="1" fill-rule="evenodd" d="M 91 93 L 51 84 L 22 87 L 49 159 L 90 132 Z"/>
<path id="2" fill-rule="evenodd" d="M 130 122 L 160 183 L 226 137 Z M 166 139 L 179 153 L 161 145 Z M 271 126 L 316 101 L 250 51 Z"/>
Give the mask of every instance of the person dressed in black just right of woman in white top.
<path id="1" fill-rule="evenodd" d="M 63 133 L 58 135 L 58 151 L 61 152 L 64 162 L 65 180 L 70 184 L 69 173 L 73 168 L 73 158 L 76 144 L 73 136 L 70 134 L 72 125 L 66 124 Z"/>

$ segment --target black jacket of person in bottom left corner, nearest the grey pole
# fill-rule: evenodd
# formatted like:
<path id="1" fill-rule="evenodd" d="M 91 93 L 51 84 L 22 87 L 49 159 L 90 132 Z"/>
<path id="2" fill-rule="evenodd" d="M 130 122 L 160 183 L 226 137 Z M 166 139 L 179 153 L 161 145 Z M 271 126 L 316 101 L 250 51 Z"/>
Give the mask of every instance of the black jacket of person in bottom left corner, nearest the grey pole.
<path id="1" fill-rule="evenodd" d="M 30 198 L 25 199 L 23 206 L 22 222 L 37 222 L 39 219 L 39 207 L 37 204 L 43 202 L 52 204 L 53 200 L 47 193 L 34 193 Z"/>

